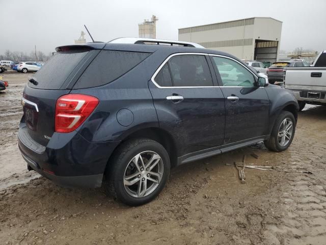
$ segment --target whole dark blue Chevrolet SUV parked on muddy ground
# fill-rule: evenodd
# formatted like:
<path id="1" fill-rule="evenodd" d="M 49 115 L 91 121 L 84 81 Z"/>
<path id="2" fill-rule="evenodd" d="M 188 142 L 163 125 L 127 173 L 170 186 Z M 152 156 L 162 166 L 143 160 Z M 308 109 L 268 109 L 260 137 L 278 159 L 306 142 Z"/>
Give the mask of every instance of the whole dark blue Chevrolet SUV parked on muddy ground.
<path id="1" fill-rule="evenodd" d="M 291 144 L 293 94 L 239 59 L 178 41 L 119 42 L 58 47 L 29 79 L 18 132 L 29 170 L 63 186 L 105 179 L 119 200 L 141 205 L 171 167 L 260 141 L 276 152 Z"/>

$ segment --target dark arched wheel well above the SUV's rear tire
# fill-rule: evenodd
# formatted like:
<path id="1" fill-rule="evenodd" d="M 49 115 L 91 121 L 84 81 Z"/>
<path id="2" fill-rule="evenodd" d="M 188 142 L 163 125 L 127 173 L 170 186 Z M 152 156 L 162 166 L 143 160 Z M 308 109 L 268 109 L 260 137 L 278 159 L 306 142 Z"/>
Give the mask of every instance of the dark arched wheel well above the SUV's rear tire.
<path id="1" fill-rule="evenodd" d="M 172 136 L 165 130 L 159 129 L 159 128 L 146 128 L 141 129 L 138 131 L 135 131 L 128 135 L 124 140 L 120 142 L 120 144 L 117 146 L 117 148 L 125 141 L 134 139 L 134 138 L 147 138 L 151 140 L 155 140 L 156 142 L 160 143 L 164 146 L 164 148 L 167 150 L 171 167 L 174 167 L 177 165 L 177 149 L 176 144 L 172 138 Z M 116 149 L 117 149 L 116 148 Z M 113 155 L 113 154 L 112 154 Z M 110 162 L 110 159 L 109 159 Z"/>

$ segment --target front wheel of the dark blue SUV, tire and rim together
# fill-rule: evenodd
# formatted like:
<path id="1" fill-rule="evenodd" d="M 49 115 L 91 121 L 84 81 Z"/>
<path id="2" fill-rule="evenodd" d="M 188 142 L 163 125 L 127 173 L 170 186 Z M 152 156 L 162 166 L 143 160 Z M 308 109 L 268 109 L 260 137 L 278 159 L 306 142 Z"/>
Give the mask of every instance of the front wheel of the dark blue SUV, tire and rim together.
<path id="1" fill-rule="evenodd" d="M 265 146 L 274 152 L 282 152 L 288 149 L 295 133 L 295 118 L 289 111 L 282 111 L 275 121 L 273 130 Z"/>

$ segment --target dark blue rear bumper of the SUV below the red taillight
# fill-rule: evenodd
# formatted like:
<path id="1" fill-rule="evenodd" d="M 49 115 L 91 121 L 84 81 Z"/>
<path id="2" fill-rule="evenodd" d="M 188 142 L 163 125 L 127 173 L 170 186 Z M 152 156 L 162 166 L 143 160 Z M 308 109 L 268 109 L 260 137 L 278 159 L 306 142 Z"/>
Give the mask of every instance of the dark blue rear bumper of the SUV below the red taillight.
<path id="1" fill-rule="evenodd" d="M 90 142 L 77 132 L 55 133 L 46 146 L 34 141 L 24 124 L 18 146 L 29 168 L 66 187 L 100 187 L 108 159 L 118 141 Z"/>

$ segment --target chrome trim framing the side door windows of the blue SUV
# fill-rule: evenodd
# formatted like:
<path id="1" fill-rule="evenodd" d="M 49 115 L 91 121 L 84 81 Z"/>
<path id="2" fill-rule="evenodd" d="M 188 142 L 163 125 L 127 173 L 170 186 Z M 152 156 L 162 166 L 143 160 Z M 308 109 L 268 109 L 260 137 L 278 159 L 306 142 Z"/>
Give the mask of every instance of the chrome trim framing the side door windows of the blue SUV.
<path id="1" fill-rule="evenodd" d="M 241 64 L 239 61 L 231 58 L 231 57 L 228 57 L 228 56 L 224 56 L 224 55 L 214 55 L 214 54 L 207 54 L 207 53 L 191 53 L 191 52 L 188 52 L 188 53 L 175 53 L 175 54 L 172 54 L 170 56 L 168 56 L 168 58 L 166 58 L 162 64 L 160 64 L 160 66 L 158 66 L 158 68 L 156 69 L 156 71 L 154 72 L 153 76 L 151 77 L 151 81 L 152 83 L 157 87 L 157 88 L 249 88 L 249 87 L 244 87 L 244 86 L 184 86 L 184 87 L 161 87 L 159 86 L 154 78 L 156 77 L 156 75 L 158 74 L 158 72 L 162 69 L 162 67 L 174 56 L 179 56 L 179 55 L 203 55 L 203 56 L 216 56 L 216 57 L 222 57 L 222 58 L 227 58 L 227 59 L 231 59 L 231 60 L 234 60 L 236 61 L 237 63 L 239 63 L 240 65 L 242 65 L 244 68 L 246 68 L 248 71 L 251 72 L 251 74 L 254 75 L 254 77 L 256 77 L 258 79 L 258 76 L 256 76 L 254 74 L 254 72 L 252 72 L 250 69 L 248 69 L 246 66 L 244 66 L 243 64 Z"/>

